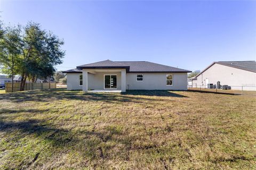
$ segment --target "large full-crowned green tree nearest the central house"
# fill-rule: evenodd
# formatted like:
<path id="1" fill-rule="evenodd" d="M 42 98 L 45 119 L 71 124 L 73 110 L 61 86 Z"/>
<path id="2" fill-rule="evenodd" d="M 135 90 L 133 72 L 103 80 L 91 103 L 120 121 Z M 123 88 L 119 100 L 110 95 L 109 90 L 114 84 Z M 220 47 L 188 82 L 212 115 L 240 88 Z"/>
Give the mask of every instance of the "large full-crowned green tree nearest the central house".
<path id="1" fill-rule="evenodd" d="M 47 78 L 54 74 L 54 65 L 61 64 L 65 51 L 61 49 L 63 40 L 52 32 L 41 29 L 38 23 L 29 22 L 22 35 L 21 90 L 27 79 Z"/>

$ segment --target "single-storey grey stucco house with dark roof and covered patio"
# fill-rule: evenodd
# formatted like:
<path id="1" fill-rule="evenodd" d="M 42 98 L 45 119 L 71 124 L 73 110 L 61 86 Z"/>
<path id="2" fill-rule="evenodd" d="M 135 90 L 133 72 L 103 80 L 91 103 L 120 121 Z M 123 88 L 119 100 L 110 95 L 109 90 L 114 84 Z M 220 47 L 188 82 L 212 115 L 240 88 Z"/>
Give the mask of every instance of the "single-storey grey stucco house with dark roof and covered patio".
<path id="1" fill-rule="evenodd" d="M 67 89 L 187 90 L 188 70 L 146 61 L 101 61 L 77 66 L 67 73 Z"/>

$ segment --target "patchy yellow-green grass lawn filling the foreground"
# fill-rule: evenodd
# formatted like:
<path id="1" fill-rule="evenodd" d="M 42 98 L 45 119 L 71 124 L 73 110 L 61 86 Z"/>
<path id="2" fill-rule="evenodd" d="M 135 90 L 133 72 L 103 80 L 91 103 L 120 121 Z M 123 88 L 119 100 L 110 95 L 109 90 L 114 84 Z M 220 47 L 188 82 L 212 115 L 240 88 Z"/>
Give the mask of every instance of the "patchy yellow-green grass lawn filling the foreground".
<path id="1" fill-rule="evenodd" d="M 192 91 L 0 95 L 0 169 L 255 169 L 256 98 Z"/>

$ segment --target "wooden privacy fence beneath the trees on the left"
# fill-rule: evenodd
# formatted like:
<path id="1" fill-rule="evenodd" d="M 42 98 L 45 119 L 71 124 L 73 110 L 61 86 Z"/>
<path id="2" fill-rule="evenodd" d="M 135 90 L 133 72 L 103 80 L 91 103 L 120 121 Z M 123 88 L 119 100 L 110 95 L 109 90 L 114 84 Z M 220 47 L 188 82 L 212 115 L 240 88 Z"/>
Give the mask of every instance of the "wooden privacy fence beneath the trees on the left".
<path id="1" fill-rule="evenodd" d="M 56 83 L 27 83 L 24 90 L 36 90 L 36 89 L 55 89 Z M 20 91 L 20 82 L 13 83 L 13 92 Z M 5 92 L 12 92 L 12 83 L 5 83 Z"/>

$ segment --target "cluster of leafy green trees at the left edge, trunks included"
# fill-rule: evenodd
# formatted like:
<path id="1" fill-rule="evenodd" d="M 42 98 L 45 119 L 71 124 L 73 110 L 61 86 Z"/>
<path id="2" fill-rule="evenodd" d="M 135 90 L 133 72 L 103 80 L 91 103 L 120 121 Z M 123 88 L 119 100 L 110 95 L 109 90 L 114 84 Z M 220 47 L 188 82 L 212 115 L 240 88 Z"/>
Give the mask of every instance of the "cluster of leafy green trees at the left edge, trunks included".
<path id="1" fill-rule="evenodd" d="M 39 23 L 28 22 L 25 26 L 5 26 L 0 22 L 1 72 L 11 75 L 12 91 L 14 75 L 21 75 L 20 90 L 27 80 L 36 82 L 54 75 L 54 66 L 62 63 L 64 41 Z"/>

